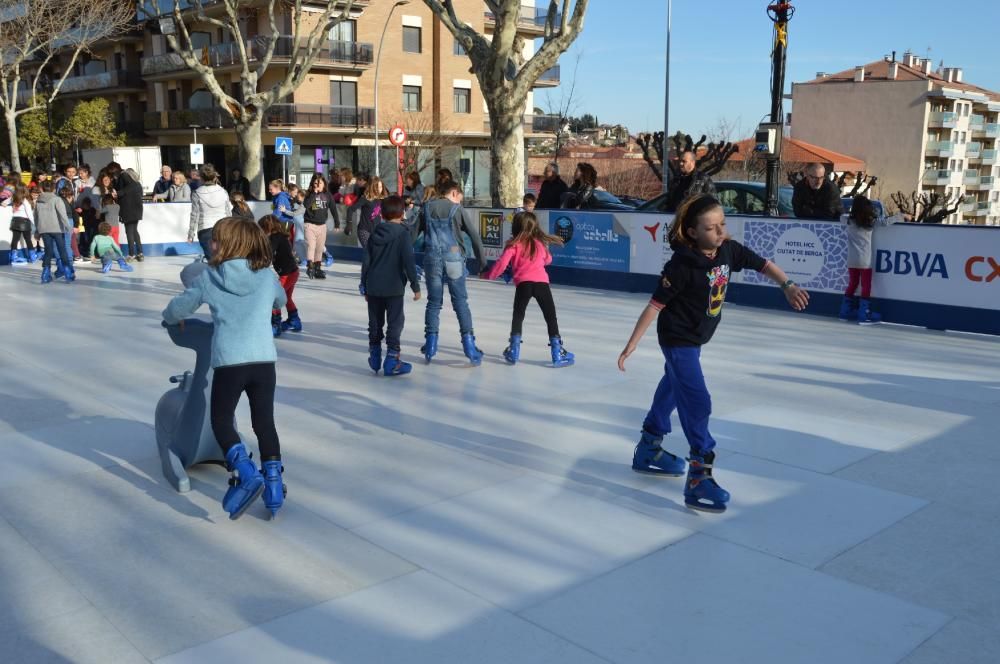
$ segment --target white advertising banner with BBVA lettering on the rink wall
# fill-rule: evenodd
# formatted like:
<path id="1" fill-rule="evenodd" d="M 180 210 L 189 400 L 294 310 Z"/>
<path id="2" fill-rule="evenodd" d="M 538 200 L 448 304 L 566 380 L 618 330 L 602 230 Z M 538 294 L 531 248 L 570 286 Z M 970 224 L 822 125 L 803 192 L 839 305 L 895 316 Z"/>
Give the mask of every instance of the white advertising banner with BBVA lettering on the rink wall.
<path id="1" fill-rule="evenodd" d="M 1000 229 L 894 224 L 873 244 L 873 297 L 1000 308 Z"/>

